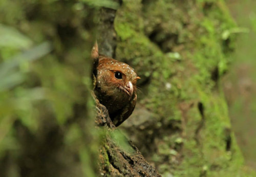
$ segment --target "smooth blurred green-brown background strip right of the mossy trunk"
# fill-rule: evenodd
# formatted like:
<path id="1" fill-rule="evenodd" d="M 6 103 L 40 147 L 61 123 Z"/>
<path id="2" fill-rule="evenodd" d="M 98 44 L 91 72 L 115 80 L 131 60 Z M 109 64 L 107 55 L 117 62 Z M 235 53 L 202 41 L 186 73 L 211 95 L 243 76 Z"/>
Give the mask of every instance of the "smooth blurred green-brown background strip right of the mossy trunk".
<path id="1" fill-rule="evenodd" d="M 246 164 L 256 169 L 256 1 L 229 0 L 227 5 L 245 33 L 238 35 L 223 84 L 232 128 Z"/>

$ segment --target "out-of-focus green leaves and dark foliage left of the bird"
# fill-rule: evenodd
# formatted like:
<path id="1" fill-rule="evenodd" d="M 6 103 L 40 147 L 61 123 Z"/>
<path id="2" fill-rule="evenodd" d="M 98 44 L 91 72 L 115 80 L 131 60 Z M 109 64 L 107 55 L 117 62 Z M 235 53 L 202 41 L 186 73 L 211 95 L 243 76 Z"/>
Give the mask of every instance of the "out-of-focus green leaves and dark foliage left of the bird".
<path id="1" fill-rule="evenodd" d="M 0 1 L 0 176 L 95 174 L 90 2 Z"/>

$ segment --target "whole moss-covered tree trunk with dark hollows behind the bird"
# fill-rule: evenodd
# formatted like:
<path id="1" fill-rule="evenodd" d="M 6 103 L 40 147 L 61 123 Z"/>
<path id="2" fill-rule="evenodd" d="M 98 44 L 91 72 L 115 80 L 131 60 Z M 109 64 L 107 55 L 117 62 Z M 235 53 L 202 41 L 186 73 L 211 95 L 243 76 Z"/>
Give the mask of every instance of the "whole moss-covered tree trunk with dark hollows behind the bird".
<path id="1" fill-rule="evenodd" d="M 219 83 L 236 37 L 225 3 L 123 0 L 117 11 L 102 9 L 101 15 L 100 53 L 129 63 L 142 78 L 135 111 L 118 129 L 145 159 L 163 176 L 253 175 L 231 131 Z M 119 149 L 112 153 L 116 146 L 106 139 L 104 175 L 146 176 L 131 164 L 124 172 L 131 158 Z"/>

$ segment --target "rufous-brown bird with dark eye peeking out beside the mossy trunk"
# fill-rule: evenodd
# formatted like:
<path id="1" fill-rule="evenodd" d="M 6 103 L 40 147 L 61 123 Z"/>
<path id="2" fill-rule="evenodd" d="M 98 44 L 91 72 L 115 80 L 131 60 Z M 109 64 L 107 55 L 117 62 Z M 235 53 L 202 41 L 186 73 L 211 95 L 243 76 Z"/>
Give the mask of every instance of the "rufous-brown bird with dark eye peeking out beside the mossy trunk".
<path id="1" fill-rule="evenodd" d="M 97 43 L 92 50 L 94 59 L 94 93 L 108 110 L 115 126 L 125 121 L 136 105 L 137 76 L 130 65 L 98 54 Z"/>

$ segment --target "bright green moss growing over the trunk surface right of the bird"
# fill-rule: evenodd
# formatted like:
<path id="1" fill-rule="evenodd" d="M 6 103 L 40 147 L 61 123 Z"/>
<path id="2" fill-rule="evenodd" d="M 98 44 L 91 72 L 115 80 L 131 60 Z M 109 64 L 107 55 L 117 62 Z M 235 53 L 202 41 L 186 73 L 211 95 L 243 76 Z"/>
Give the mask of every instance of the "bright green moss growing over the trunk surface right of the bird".
<path id="1" fill-rule="evenodd" d="M 139 102 L 157 113 L 162 125 L 174 120 L 179 124 L 180 131 L 163 134 L 157 152 L 152 152 L 150 160 L 162 174 L 253 175 L 243 166 L 217 83 L 228 69 L 234 41 L 229 36 L 227 42 L 223 33 L 233 28 L 236 25 L 223 1 L 123 1 L 117 11 L 116 56 L 130 63 L 142 80 L 150 79 Z M 182 138 L 181 149 L 175 150 L 172 137 Z M 228 138 L 230 147 L 226 147 Z"/>

